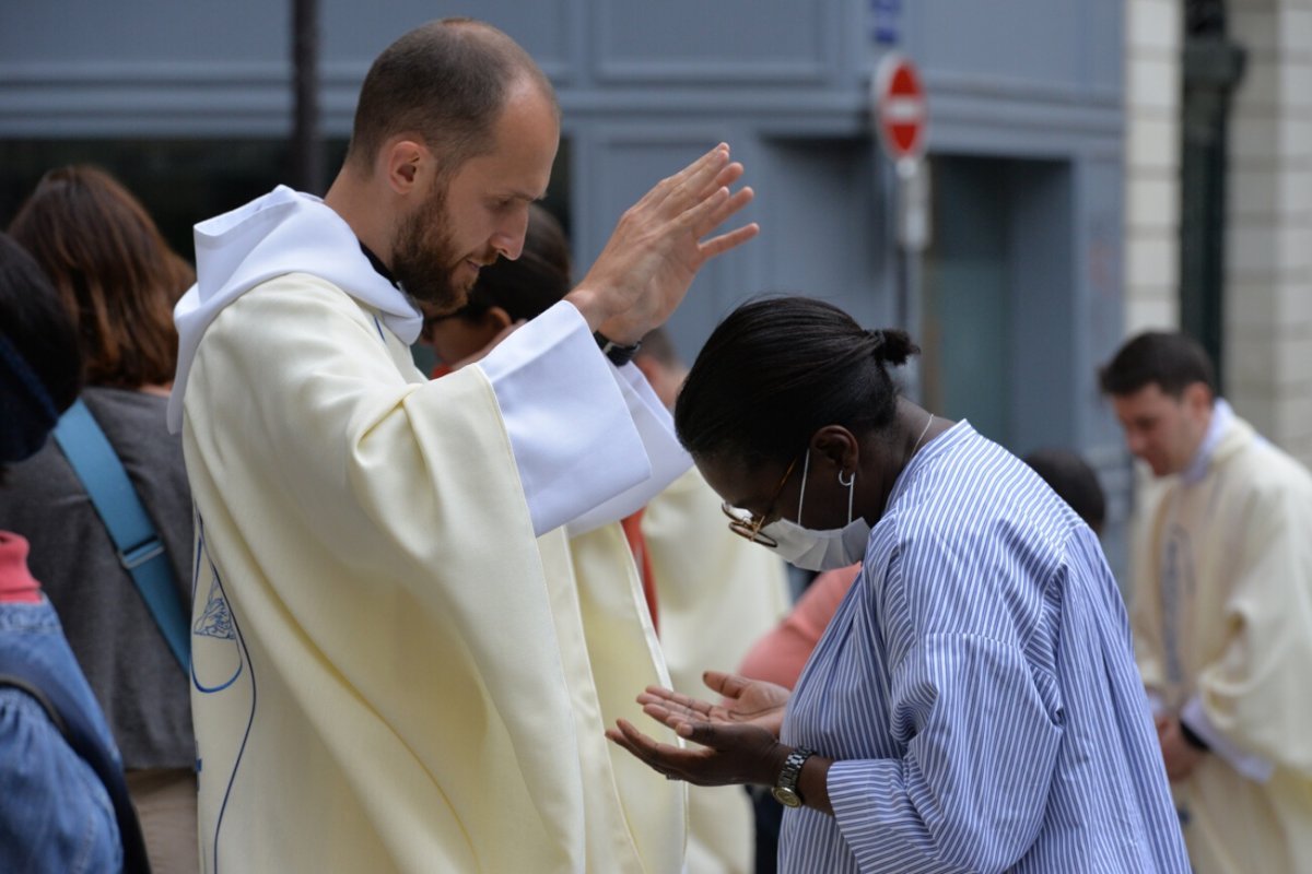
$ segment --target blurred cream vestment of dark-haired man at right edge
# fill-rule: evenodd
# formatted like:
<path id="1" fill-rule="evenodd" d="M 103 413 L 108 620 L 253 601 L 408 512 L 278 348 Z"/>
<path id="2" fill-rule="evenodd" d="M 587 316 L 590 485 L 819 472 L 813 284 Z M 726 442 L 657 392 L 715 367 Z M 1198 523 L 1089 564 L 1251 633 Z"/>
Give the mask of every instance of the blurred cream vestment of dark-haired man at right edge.
<path id="1" fill-rule="evenodd" d="M 1141 515 L 1135 656 L 1212 747 L 1173 784 L 1190 862 L 1312 871 L 1312 477 L 1231 418 L 1206 474 Z"/>

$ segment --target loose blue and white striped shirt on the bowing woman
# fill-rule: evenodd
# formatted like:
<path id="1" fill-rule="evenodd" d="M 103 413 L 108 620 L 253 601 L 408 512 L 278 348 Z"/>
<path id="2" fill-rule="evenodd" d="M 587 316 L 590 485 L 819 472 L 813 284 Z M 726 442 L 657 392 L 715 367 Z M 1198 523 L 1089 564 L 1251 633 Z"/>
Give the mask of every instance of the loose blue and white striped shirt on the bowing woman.
<path id="1" fill-rule="evenodd" d="M 966 422 L 897 478 L 783 740 L 836 761 L 782 871 L 1189 871 L 1098 541 Z"/>

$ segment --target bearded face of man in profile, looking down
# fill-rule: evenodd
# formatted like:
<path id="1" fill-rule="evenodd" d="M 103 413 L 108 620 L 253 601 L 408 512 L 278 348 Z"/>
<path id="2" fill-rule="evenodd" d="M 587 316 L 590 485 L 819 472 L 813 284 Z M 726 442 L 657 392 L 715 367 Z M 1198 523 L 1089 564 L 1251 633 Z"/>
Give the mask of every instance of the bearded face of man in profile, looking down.
<path id="1" fill-rule="evenodd" d="M 440 176 L 400 220 L 392 271 L 407 294 L 450 313 L 468 300 L 482 267 L 518 258 L 529 204 L 547 190 L 559 143 L 552 100 L 531 83 L 512 85 L 492 151 Z"/>

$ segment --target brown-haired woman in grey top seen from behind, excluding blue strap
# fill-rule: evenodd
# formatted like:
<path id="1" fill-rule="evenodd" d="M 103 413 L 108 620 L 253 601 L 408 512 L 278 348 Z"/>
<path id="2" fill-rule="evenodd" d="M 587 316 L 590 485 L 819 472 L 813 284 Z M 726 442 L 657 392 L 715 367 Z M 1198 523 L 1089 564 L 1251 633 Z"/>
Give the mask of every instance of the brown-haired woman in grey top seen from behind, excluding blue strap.
<path id="1" fill-rule="evenodd" d="M 177 358 L 173 304 L 194 280 L 142 204 L 101 170 L 51 170 L 10 228 L 76 318 L 85 409 L 108 438 L 159 541 L 171 629 L 188 639 L 192 498 L 181 440 L 165 427 Z M 194 871 L 195 746 L 185 658 L 125 567 L 106 524 L 54 442 L 10 470 L 0 527 L 31 542 L 33 574 L 63 620 L 123 755 L 156 870 Z M 177 626 L 181 625 L 181 629 Z"/>

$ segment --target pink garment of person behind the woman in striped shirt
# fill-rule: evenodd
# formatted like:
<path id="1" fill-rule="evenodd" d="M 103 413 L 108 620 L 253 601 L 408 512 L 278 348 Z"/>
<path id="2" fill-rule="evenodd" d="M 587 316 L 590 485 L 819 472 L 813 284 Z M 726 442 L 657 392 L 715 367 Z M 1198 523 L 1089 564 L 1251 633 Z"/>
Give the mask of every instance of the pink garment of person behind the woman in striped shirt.
<path id="1" fill-rule="evenodd" d="M 739 674 L 789 689 L 796 685 L 802 668 L 811 658 L 811 650 L 820 641 L 829 620 L 838 612 L 838 604 L 859 573 L 861 565 L 851 565 L 816 577 L 792 605 L 792 612 L 785 616 L 773 632 L 752 645 L 743 658 Z"/>

